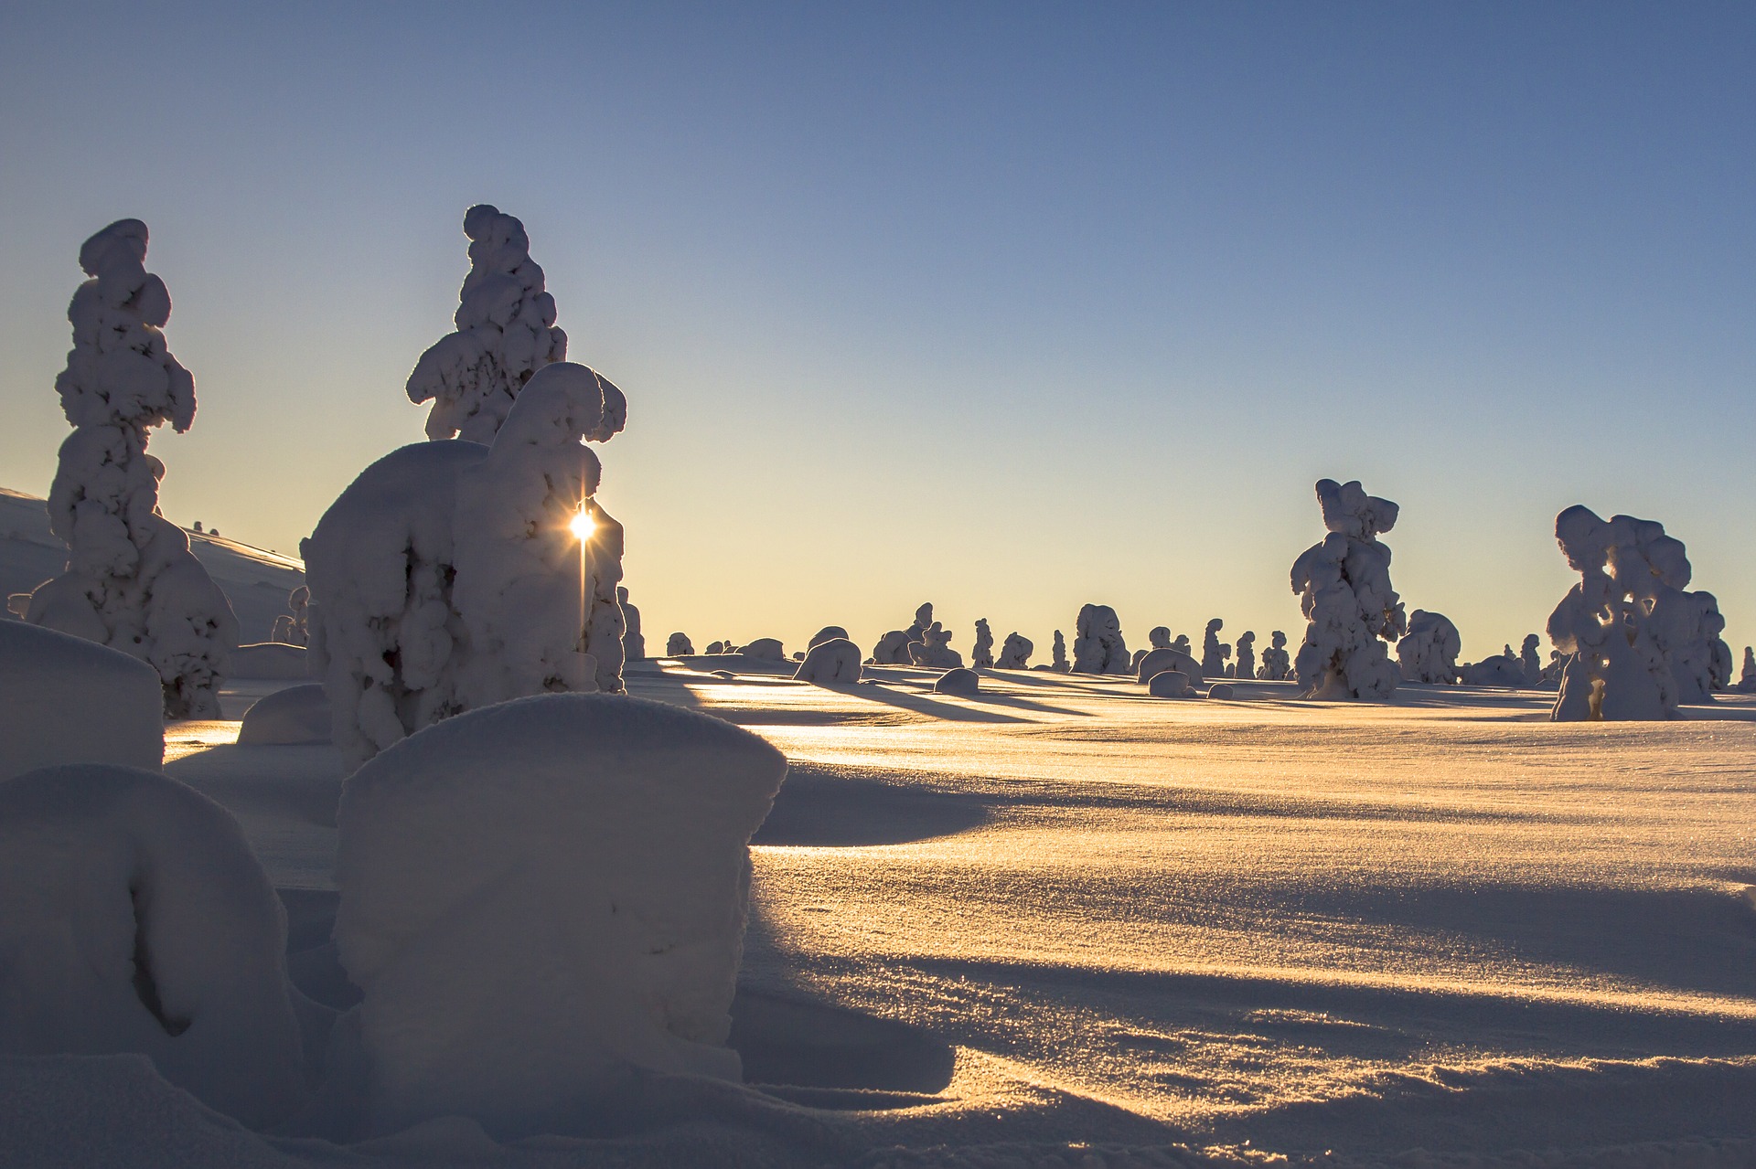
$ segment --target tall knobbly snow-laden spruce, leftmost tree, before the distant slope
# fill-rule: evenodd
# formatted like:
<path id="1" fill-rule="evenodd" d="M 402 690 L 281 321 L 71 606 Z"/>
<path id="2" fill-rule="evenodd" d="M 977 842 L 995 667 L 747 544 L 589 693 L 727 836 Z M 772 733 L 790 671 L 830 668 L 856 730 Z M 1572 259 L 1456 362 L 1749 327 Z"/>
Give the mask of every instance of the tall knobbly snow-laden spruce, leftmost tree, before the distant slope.
<path id="1" fill-rule="evenodd" d="M 32 593 L 25 620 L 140 658 L 158 671 L 167 718 L 220 718 L 237 618 L 183 528 L 158 514 L 165 465 L 149 432 L 195 421 L 195 379 L 160 332 L 165 283 L 146 270 L 146 225 L 118 219 L 79 249 L 88 279 L 67 305 L 74 348 L 54 379 L 74 434 L 49 488 L 49 527 L 67 542 L 61 576 Z"/>

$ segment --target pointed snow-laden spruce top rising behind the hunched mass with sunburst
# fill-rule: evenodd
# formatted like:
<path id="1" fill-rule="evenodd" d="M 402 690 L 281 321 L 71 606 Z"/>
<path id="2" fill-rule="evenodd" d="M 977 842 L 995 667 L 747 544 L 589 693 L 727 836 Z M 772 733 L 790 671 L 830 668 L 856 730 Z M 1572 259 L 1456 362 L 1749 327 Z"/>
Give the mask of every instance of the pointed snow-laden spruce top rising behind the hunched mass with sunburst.
<path id="1" fill-rule="evenodd" d="M 525 225 L 499 207 L 464 212 L 469 276 L 458 291 L 457 332 L 441 337 L 409 374 L 409 400 L 432 402 L 427 437 L 493 442 L 513 400 L 550 362 L 567 356 L 555 298 L 530 258 Z"/>

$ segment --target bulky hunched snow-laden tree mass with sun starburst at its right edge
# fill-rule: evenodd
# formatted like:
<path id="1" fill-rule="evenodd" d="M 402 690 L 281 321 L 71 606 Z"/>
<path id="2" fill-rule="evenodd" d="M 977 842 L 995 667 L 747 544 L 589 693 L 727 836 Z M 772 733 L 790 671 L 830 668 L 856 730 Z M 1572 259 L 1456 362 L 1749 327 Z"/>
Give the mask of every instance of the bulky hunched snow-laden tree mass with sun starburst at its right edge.
<path id="1" fill-rule="evenodd" d="M 302 546 L 313 676 L 342 758 L 506 699 L 622 690 L 622 525 L 579 442 L 606 402 L 594 370 L 544 365 L 492 446 L 392 451 L 318 521 Z"/>

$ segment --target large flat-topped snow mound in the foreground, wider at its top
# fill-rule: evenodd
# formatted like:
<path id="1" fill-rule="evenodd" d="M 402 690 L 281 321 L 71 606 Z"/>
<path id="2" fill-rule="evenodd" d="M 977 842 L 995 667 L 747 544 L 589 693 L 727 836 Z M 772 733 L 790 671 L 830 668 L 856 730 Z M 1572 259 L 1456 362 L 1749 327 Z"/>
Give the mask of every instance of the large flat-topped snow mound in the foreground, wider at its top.
<path id="1" fill-rule="evenodd" d="M 738 1079 L 748 839 L 785 774 L 746 730 L 611 695 L 471 711 L 355 772 L 335 943 L 369 1125 L 562 1130 L 632 1067 Z"/>

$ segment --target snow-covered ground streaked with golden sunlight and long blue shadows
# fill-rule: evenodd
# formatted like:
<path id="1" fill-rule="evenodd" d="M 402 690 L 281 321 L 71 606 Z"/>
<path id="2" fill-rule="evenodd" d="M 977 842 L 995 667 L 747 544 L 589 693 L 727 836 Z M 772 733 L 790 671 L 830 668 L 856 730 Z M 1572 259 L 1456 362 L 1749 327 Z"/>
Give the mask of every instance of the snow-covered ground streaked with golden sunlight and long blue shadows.
<path id="1" fill-rule="evenodd" d="M 339 1148 L 249 1134 L 137 1058 L 9 1058 L 0 1160 L 1756 1164 L 1751 697 L 1556 725 L 1531 692 L 788 672 L 627 672 L 792 760 L 732 1006 L 748 1087 L 653 1078 L 516 1144 L 446 1120 Z M 249 686 L 230 718 L 276 683 Z M 235 734 L 174 723 L 167 771 L 239 816 L 293 981 L 346 1006 L 339 757 Z"/>

